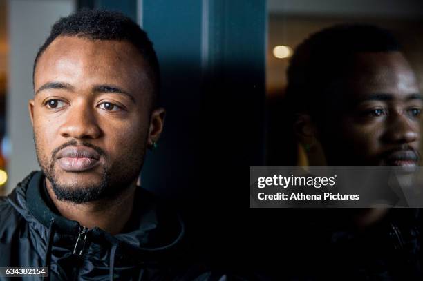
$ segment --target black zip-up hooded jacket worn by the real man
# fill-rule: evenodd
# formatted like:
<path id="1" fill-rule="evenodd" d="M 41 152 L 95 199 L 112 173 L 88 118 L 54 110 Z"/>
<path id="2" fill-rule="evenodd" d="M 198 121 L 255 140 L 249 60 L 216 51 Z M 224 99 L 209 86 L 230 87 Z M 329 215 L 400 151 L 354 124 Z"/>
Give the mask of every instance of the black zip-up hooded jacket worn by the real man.
<path id="1" fill-rule="evenodd" d="M 113 236 L 51 211 L 43 200 L 43 184 L 44 175 L 32 172 L 10 195 L 0 197 L 0 267 L 48 267 L 51 280 L 209 277 L 187 273 L 184 224 L 148 191 L 138 188 L 127 232 Z"/>

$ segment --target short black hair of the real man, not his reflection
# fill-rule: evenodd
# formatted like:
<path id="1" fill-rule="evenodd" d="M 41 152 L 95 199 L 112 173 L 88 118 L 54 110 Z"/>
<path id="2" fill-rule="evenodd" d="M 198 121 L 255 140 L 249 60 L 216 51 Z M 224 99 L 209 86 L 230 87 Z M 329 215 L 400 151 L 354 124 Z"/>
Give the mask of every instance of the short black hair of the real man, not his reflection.
<path id="1" fill-rule="evenodd" d="M 32 80 L 39 57 L 58 36 L 75 36 L 91 40 L 129 41 L 140 52 L 149 66 L 147 75 L 153 86 L 153 106 L 160 92 L 160 68 L 156 52 L 147 33 L 121 12 L 82 9 L 60 18 L 51 28 L 50 35 L 39 48 L 34 61 Z"/>

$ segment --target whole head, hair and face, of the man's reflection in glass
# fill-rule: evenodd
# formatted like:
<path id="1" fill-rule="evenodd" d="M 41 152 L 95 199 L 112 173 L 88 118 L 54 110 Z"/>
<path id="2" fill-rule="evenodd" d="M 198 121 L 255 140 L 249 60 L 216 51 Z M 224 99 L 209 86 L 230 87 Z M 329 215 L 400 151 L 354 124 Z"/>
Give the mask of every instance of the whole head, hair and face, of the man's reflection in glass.
<path id="1" fill-rule="evenodd" d="M 338 26 L 313 35 L 292 57 L 288 95 L 310 162 L 417 165 L 422 99 L 413 70 L 388 32 Z M 326 163 L 315 157 L 320 149 Z"/>

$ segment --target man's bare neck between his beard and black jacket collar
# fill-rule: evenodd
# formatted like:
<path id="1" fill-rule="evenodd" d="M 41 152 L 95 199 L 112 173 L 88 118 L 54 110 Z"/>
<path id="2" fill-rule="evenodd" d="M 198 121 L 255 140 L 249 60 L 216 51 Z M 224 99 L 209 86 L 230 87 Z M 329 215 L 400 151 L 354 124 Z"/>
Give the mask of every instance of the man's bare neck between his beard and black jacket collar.
<path id="1" fill-rule="evenodd" d="M 126 222 L 131 217 L 136 188 L 135 182 L 111 200 L 97 200 L 84 204 L 57 200 L 48 180 L 46 180 L 46 187 L 48 195 L 53 200 L 60 215 L 68 220 L 75 220 L 88 229 L 99 227 L 115 235 L 122 232 Z"/>

